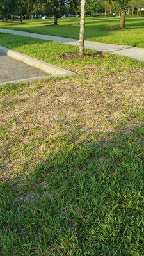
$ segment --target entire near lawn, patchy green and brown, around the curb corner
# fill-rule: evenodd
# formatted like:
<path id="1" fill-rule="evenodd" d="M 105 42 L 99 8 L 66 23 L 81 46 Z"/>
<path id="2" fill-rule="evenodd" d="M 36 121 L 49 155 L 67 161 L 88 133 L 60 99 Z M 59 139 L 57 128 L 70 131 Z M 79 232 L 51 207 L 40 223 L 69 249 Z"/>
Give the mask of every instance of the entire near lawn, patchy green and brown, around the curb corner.
<path id="1" fill-rule="evenodd" d="M 3 256 L 144 254 L 144 64 L 0 34 L 77 72 L 0 90 Z"/>

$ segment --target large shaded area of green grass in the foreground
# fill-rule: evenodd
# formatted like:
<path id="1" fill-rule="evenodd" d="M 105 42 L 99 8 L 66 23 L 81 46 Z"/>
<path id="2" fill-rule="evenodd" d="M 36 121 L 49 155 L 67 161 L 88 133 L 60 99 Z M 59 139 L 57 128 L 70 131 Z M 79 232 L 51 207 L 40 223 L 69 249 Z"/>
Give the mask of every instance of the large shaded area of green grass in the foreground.
<path id="1" fill-rule="evenodd" d="M 3 182 L 4 255 L 142 255 L 143 136 L 136 125 L 73 141 L 26 177 Z"/>

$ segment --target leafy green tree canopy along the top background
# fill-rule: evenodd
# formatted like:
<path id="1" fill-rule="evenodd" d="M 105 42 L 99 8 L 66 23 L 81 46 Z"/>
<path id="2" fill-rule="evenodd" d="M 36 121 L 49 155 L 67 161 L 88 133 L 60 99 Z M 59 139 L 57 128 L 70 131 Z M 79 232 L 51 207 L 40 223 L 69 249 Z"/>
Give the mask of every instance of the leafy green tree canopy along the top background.
<path id="1" fill-rule="evenodd" d="M 126 12 L 128 8 L 133 15 L 140 7 L 144 7 L 144 0 L 86 0 L 86 15 L 118 15 L 119 10 Z M 5 21 L 11 15 L 13 19 L 23 15 L 51 15 L 56 25 L 60 15 L 80 15 L 80 10 L 81 0 L 0 0 L 0 18 Z"/>

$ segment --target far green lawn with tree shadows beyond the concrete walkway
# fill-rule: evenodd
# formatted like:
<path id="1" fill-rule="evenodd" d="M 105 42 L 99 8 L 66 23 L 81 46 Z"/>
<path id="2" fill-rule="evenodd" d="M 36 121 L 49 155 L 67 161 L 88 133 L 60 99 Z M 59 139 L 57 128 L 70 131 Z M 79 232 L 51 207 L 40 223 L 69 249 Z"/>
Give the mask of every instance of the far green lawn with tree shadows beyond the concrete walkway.
<path id="1" fill-rule="evenodd" d="M 59 26 L 52 26 L 49 20 L 26 20 L 20 25 L 18 21 L 0 23 L 0 28 L 17 29 L 46 35 L 79 38 L 79 18 L 59 19 Z M 86 18 L 86 40 L 111 44 L 144 47 L 144 18 L 127 18 L 126 26 L 132 29 L 113 30 L 119 26 L 119 18 Z"/>

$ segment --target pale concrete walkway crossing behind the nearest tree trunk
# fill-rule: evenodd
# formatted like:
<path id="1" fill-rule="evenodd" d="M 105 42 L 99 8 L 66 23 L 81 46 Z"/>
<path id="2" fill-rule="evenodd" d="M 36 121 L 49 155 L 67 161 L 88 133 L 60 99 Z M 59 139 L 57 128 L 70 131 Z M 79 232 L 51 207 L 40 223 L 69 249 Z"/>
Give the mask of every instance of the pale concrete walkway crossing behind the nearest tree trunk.
<path id="1" fill-rule="evenodd" d="M 42 40 L 60 42 L 60 43 L 69 44 L 69 45 L 76 45 L 76 46 L 79 45 L 79 40 L 60 37 L 60 36 L 41 35 L 36 33 L 29 33 L 24 31 L 10 30 L 10 29 L 1 29 L 1 28 L 0 28 L 0 33 L 10 33 L 13 35 L 28 36 L 33 38 L 39 38 Z M 109 52 L 113 54 L 135 58 L 140 61 L 144 61 L 144 48 L 116 45 L 116 44 L 104 44 L 104 43 L 97 43 L 97 42 L 91 42 L 91 41 L 85 41 L 85 46 L 88 49 Z"/>

